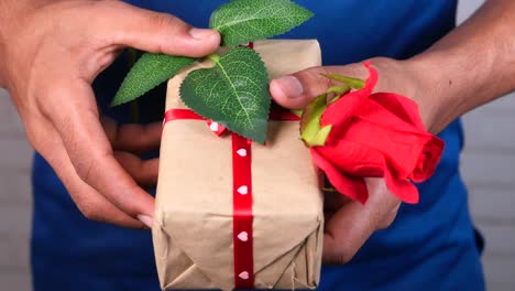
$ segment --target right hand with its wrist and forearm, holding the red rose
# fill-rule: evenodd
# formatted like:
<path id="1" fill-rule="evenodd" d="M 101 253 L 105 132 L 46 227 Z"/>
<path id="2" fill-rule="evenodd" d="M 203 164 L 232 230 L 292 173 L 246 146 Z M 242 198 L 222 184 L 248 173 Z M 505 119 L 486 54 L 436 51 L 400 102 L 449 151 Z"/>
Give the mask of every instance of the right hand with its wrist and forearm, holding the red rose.
<path id="1" fill-rule="evenodd" d="M 486 1 L 427 52 L 403 62 L 373 58 L 380 73 L 376 91 L 414 99 L 426 128 L 438 133 L 461 115 L 515 90 L 514 32 L 515 1 Z M 366 78 L 362 64 L 314 67 L 272 80 L 272 96 L 287 108 L 303 108 L 336 85 L 320 74 L 328 72 Z M 328 263 L 350 261 L 374 231 L 395 219 L 401 201 L 383 180 L 366 183 L 370 200 L 365 205 L 331 195 L 331 205 L 326 206 L 324 260 Z"/>

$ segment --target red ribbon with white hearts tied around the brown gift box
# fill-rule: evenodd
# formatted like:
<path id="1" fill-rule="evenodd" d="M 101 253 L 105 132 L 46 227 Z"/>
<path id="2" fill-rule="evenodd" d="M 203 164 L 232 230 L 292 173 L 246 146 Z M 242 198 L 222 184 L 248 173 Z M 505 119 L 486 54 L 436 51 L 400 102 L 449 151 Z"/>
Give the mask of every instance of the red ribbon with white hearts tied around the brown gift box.
<path id="1" fill-rule="evenodd" d="M 289 111 L 273 110 L 271 120 L 298 121 Z M 173 120 L 206 120 L 217 136 L 226 128 L 195 114 L 189 109 L 171 109 L 165 112 L 164 125 Z M 213 126 L 216 125 L 216 126 Z M 222 129 L 222 130 L 221 130 Z M 221 131 L 220 131 L 221 130 Z M 252 155 L 251 142 L 235 133 L 232 138 L 232 241 L 235 289 L 254 288 L 254 254 L 252 235 Z"/>

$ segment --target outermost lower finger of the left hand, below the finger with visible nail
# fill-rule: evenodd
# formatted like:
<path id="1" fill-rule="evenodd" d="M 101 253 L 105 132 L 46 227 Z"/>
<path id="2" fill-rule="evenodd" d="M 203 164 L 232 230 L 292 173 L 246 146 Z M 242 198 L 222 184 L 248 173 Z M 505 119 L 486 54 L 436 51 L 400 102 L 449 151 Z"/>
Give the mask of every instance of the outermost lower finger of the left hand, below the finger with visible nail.
<path id="1" fill-rule="evenodd" d="M 44 119 L 36 122 L 39 125 L 36 130 L 30 130 L 31 127 L 28 127 L 28 134 L 32 137 L 31 142 L 54 169 L 86 218 L 130 228 L 146 228 L 143 223 L 124 214 L 84 183 L 75 172 L 57 131 Z"/>

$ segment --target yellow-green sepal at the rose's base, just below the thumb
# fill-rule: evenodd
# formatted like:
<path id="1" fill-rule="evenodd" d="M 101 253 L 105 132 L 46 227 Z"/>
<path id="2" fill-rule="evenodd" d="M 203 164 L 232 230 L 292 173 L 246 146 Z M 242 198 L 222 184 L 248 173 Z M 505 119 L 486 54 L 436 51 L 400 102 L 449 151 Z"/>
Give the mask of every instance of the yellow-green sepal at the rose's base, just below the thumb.
<path id="1" fill-rule="evenodd" d="M 326 146 L 327 138 L 332 130 L 332 126 L 320 126 L 321 116 L 327 108 L 327 94 L 320 95 L 313 100 L 300 117 L 300 139 L 308 146 Z"/>

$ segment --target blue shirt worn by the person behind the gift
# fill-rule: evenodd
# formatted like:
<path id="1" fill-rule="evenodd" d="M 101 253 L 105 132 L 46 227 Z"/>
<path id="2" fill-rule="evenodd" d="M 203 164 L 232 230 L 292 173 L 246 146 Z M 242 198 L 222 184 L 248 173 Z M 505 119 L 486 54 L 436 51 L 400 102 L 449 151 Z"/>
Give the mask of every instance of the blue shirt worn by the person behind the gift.
<path id="1" fill-rule="evenodd" d="M 220 0 L 132 0 L 207 26 Z M 281 37 L 318 39 L 326 65 L 373 56 L 407 58 L 454 26 L 456 0 L 297 0 L 316 17 Z M 127 71 L 118 61 L 95 82 L 99 104 L 114 95 Z M 140 101 L 143 121 L 160 120 L 163 89 Z M 156 115 L 158 112 L 158 115 Z M 105 109 L 124 119 L 128 108 Z M 322 269 L 319 290 L 483 290 L 467 191 L 459 173 L 460 122 L 440 137 L 447 147 L 436 175 L 418 185 L 420 203 L 403 205 L 394 224 L 375 233 L 346 266 Z M 151 235 L 89 222 L 48 164 L 34 159 L 32 266 L 36 291 L 158 290 Z"/>

